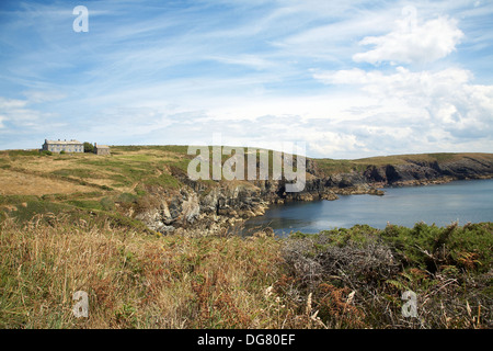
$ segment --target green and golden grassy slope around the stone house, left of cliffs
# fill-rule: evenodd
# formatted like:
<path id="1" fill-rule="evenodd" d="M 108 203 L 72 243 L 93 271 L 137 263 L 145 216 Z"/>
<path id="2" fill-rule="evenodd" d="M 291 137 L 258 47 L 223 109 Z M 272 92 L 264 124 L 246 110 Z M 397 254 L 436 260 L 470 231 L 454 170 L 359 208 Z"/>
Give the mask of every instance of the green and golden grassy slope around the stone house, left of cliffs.
<path id="1" fill-rule="evenodd" d="M 117 215 L 118 205 L 145 197 L 145 184 L 182 185 L 171 169 L 186 170 L 186 147 L 124 146 L 112 151 L 110 157 L 0 152 L 0 208 L 21 220 L 38 213 Z"/>

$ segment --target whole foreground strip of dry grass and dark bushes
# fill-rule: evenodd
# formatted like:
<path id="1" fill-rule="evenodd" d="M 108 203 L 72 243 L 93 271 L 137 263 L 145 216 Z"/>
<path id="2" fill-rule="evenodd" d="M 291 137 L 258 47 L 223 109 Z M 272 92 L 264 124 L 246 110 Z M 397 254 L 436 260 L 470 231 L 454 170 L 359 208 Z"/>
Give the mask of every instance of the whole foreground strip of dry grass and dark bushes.
<path id="1" fill-rule="evenodd" d="M 492 223 L 282 239 L 3 218 L 0 328 L 492 328 Z M 416 318 L 401 313 L 409 290 Z"/>

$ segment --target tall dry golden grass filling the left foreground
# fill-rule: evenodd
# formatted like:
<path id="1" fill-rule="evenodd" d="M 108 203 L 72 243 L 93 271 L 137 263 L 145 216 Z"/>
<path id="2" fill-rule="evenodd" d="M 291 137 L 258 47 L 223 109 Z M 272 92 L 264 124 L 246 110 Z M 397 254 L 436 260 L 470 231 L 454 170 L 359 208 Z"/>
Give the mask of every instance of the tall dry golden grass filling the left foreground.
<path id="1" fill-rule="evenodd" d="M 273 238 L 157 237 L 37 218 L 0 230 L 1 328 L 268 328 Z M 48 224 L 46 224 L 48 219 Z M 89 294 L 89 318 L 72 294 Z M 275 313 L 274 313 L 275 312 Z"/>

